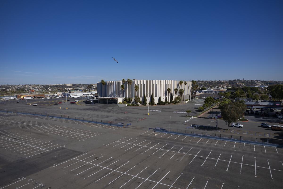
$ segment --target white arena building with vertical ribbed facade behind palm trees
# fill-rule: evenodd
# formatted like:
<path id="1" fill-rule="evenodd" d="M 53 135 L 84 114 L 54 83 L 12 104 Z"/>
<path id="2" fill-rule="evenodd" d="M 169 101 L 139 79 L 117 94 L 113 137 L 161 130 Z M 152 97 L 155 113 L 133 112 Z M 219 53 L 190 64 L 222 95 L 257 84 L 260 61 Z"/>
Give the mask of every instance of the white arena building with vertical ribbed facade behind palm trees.
<path id="1" fill-rule="evenodd" d="M 149 103 L 149 99 L 151 94 L 153 94 L 155 103 L 157 103 L 159 96 L 162 101 L 165 101 L 166 97 L 168 101 L 170 101 L 170 95 L 168 96 L 167 89 L 171 89 L 171 93 L 173 94 L 173 98 L 175 98 L 174 89 L 177 88 L 183 89 L 183 95 L 191 94 L 192 82 L 187 81 L 187 84 L 183 83 L 182 86 L 179 85 L 179 81 L 177 80 L 132 80 L 132 84 L 128 84 L 127 80 L 125 82 L 125 90 L 121 90 L 122 81 L 106 81 L 105 85 L 102 85 L 101 82 L 97 83 L 97 93 L 99 99 L 105 99 L 104 103 L 119 103 L 123 101 L 123 98 L 132 97 L 134 101 L 135 95 L 140 97 L 140 101 L 143 102 L 143 96 L 145 95 L 147 98 L 147 103 Z M 135 86 L 139 86 L 139 90 L 135 91 Z M 178 94 L 179 95 L 179 92 Z M 186 96 L 188 99 L 190 96 Z M 185 97 L 185 99 L 186 99 Z M 118 102 L 116 101 L 118 100 Z M 114 102 L 115 101 L 115 102 Z"/>

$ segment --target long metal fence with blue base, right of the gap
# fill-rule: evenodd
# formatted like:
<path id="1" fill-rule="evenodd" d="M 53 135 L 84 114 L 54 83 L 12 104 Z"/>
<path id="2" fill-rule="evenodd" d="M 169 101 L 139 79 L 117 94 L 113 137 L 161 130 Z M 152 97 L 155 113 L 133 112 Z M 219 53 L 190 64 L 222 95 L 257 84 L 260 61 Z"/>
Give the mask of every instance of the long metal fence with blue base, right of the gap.
<path id="1" fill-rule="evenodd" d="M 159 127 L 159 128 L 154 128 L 152 130 L 155 130 L 156 132 L 162 132 L 162 133 L 171 133 L 171 134 L 177 134 L 177 135 L 209 138 L 209 139 L 216 139 L 216 140 L 223 140 L 223 141 L 234 141 L 234 142 L 239 142 L 239 143 L 248 143 L 248 144 L 283 148 L 283 141 L 280 139 L 274 140 L 274 139 L 267 139 L 267 138 L 260 138 L 260 137 L 244 137 L 244 136 L 237 136 L 237 135 L 225 135 L 222 133 L 207 133 L 206 131 L 194 131 L 193 129 L 183 130 L 183 129 L 172 129 L 172 128 L 169 129 L 169 128 Z"/>

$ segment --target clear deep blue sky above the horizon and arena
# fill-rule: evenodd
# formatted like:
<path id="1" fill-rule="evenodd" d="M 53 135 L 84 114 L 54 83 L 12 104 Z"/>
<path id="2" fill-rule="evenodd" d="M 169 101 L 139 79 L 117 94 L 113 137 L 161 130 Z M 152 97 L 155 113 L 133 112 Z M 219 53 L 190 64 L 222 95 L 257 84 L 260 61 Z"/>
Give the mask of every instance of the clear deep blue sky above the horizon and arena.
<path id="1" fill-rule="evenodd" d="M 283 80 L 282 8 L 282 0 L 3 0 L 0 83 Z"/>

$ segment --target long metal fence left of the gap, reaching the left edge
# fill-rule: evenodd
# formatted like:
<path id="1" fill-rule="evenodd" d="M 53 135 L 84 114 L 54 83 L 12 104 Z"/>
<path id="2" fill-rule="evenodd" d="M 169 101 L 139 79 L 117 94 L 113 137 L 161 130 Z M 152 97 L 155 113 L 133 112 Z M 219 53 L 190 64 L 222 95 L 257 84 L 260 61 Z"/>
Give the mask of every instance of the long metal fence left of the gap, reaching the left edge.
<path id="1" fill-rule="evenodd" d="M 95 118 L 84 118 L 78 116 L 68 116 L 68 115 L 61 115 L 61 114 L 49 114 L 49 113 L 41 113 L 41 112 L 29 112 L 29 111 L 19 111 L 19 110 L 4 110 L 0 109 L 0 112 L 7 112 L 7 113 L 16 113 L 16 114 L 30 114 L 30 115 L 39 115 L 39 116 L 46 116 L 46 117 L 54 117 L 54 118 L 63 118 L 63 119 L 70 119 L 70 120 L 78 120 L 84 122 L 91 122 L 91 123 L 100 123 L 104 125 L 110 126 L 117 126 L 117 127 L 126 127 L 129 124 L 120 123 L 120 122 L 113 122 L 109 120 L 101 120 Z"/>

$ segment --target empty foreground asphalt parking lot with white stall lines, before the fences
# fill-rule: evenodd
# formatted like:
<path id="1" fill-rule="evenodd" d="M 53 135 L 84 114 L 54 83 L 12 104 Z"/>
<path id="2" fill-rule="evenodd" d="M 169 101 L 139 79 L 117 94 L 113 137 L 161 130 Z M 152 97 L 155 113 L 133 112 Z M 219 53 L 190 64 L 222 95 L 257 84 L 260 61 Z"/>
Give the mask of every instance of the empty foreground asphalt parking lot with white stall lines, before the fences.
<path id="1" fill-rule="evenodd" d="M 75 111 L 83 114 L 84 108 Z M 153 132 L 147 130 L 150 121 L 120 128 L 2 112 L 0 188 L 225 189 L 283 184 L 281 148 Z"/>

